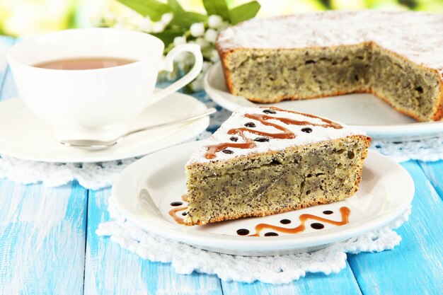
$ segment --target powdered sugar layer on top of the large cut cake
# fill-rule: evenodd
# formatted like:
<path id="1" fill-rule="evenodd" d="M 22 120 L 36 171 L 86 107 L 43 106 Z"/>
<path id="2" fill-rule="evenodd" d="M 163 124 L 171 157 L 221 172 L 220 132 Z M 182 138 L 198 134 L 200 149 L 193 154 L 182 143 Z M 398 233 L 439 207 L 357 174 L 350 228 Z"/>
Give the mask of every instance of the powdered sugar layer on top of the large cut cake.
<path id="1" fill-rule="evenodd" d="M 443 72 L 443 15 L 412 11 L 327 11 L 254 18 L 224 30 L 219 48 L 379 46 Z"/>

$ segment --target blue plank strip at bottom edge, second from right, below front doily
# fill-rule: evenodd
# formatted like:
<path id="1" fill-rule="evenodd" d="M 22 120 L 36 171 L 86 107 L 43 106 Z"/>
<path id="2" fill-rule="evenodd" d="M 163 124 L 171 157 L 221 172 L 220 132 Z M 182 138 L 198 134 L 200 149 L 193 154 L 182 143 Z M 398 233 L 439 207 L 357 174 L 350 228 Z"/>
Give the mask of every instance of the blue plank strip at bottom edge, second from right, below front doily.
<path id="1" fill-rule="evenodd" d="M 338 274 L 306 274 L 290 284 L 253 284 L 222 282 L 223 294 L 286 295 L 286 294 L 362 294 L 349 265 Z"/>

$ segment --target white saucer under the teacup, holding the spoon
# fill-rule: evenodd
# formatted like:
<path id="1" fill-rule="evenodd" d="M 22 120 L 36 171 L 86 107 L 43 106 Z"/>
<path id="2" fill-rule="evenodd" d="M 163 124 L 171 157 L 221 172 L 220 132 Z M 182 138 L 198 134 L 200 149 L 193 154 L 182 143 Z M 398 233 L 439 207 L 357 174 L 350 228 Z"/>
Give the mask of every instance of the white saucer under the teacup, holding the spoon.
<path id="1" fill-rule="evenodd" d="M 136 128 L 167 122 L 206 110 L 199 100 L 173 93 L 149 106 L 127 123 Z M 35 117 L 20 98 L 0 102 L 0 154 L 45 162 L 101 162 L 159 151 L 191 139 L 209 125 L 209 117 L 186 125 L 175 125 L 125 137 L 119 144 L 100 151 L 86 151 L 59 144 L 52 139 L 52 127 Z"/>

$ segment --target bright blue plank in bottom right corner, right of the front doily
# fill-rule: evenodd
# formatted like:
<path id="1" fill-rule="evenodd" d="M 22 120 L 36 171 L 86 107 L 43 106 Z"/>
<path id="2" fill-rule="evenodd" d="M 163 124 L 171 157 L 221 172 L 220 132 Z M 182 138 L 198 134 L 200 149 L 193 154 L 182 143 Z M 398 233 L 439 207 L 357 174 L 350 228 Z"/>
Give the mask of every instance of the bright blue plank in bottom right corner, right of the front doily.
<path id="1" fill-rule="evenodd" d="M 443 202 L 417 162 L 403 166 L 413 176 L 415 197 L 410 220 L 397 230 L 401 244 L 348 257 L 365 295 L 443 294 Z"/>

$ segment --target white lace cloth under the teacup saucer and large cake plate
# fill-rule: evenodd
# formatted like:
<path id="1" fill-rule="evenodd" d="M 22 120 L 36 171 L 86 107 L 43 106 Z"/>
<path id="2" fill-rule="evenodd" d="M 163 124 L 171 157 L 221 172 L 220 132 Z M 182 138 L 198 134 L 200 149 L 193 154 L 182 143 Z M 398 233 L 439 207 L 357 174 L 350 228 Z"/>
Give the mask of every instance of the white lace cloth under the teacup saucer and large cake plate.
<path id="1" fill-rule="evenodd" d="M 208 108 L 217 107 L 204 93 L 195 93 Z M 211 116 L 207 132 L 203 132 L 192 140 L 205 139 L 224 122 L 231 112 L 217 107 L 219 112 Z M 390 142 L 373 140 L 374 151 L 402 162 L 408 160 L 438 161 L 443 159 L 443 136 L 432 139 Z M 17 183 L 43 183 L 48 187 L 57 187 L 77 180 L 87 189 L 97 190 L 112 185 L 117 175 L 137 158 L 101 163 L 45 163 L 26 161 L 9 156 L 0 158 L 0 178 L 8 178 Z"/>

